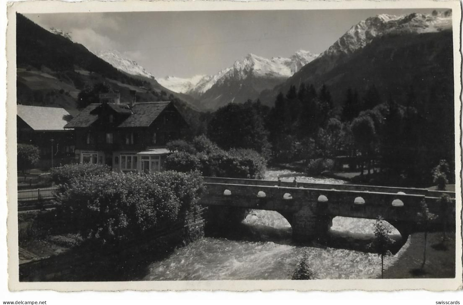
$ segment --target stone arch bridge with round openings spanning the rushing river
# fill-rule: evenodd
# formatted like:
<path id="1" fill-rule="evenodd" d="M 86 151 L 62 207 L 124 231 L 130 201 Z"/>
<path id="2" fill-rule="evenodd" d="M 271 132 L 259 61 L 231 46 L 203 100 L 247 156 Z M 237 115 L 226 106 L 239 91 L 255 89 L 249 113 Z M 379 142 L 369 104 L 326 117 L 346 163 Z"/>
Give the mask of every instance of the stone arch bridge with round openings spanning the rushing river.
<path id="1" fill-rule="evenodd" d="M 407 239 L 420 230 L 420 203 L 438 217 L 433 225 L 455 225 L 455 193 L 416 188 L 352 184 L 313 184 L 204 177 L 200 204 L 279 212 L 291 224 L 295 241 L 322 241 L 336 216 L 376 219 L 382 216 Z M 441 195 L 450 206 L 439 206 Z"/>

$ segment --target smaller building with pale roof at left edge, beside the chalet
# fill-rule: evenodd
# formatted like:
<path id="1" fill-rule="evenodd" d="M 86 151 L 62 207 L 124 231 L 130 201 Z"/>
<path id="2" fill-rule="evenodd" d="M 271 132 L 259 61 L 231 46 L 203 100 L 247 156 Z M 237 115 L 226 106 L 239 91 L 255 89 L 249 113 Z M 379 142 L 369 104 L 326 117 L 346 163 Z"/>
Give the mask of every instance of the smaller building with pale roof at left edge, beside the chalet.
<path id="1" fill-rule="evenodd" d="M 49 168 L 73 161 L 74 133 L 64 128 L 72 116 L 64 108 L 17 105 L 16 119 L 18 143 L 32 144 L 39 149 L 38 167 Z"/>

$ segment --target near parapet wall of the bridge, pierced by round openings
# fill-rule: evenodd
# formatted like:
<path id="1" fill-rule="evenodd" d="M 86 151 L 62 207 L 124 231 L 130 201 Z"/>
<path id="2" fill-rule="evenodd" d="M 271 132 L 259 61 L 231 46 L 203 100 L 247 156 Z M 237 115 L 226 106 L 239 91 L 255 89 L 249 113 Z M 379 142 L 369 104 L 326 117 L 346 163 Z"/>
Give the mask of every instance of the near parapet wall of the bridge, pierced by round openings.
<path id="1" fill-rule="evenodd" d="M 297 212 L 304 206 L 312 205 L 320 213 L 332 216 L 397 221 L 418 222 L 420 203 L 425 195 L 397 194 L 372 191 L 336 190 L 322 188 L 294 188 L 285 186 L 245 185 L 225 183 L 205 183 L 206 194 L 201 204 L 225 205 L 249 209 L 277 210 Z M 428 203 L 432 213 L 442 214 L 437 201 Z M 445 216 L 438 217 L 438 222 L 445 219 L 455 222 L 455 204 Z M 453 215 L 453 216 L 452 216 Z"/>

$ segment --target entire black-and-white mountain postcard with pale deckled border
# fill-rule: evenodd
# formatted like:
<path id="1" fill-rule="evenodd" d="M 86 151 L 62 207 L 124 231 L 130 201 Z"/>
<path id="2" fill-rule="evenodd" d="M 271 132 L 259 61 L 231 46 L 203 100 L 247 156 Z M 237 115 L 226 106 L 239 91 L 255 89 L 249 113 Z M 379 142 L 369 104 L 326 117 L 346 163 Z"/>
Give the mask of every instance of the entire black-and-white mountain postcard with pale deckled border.
<path id="1" fill-rule="evenodd" d="M 461 286 L 458 2 L 150 5 L 9 15 L 19 287 Z"/>

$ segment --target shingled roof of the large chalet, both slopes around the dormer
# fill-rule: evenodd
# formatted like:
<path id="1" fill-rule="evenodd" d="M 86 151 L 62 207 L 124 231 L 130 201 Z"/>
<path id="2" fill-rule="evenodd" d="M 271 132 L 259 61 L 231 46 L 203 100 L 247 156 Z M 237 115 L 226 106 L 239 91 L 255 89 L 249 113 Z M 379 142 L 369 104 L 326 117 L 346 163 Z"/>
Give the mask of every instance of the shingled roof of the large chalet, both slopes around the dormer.
<path id="1" fill-rule="evenodd" d="M 141 102 L 134 105 L 130 110 L 126 105 L 108 104 L 119 113 L 129 114 L 118 127 L 148 127 L 156 120 L 159 114 L 169 105 L 170 102 Z M 90 104 L 81 111 L 77 117 L 70 121 L 66 128 L 89 127 L 97 119 L 97 111 L 94 111 L 102 104 Z"/>

